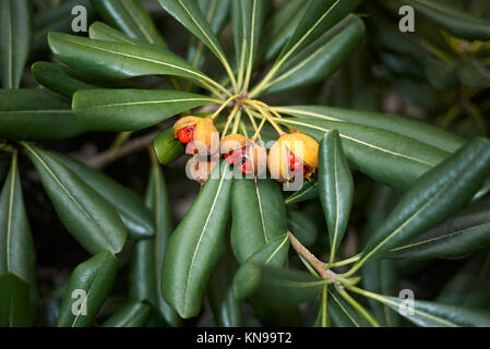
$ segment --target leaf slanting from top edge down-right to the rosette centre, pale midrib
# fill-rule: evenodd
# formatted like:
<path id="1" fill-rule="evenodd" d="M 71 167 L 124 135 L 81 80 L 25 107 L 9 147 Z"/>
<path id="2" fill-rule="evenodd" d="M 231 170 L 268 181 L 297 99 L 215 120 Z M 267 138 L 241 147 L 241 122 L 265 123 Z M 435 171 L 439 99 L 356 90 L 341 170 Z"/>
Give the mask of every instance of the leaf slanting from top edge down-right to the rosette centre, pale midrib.
<path id="1" fill-rule="evenodd" d="M 207 23 L 195 0 L 158 0 L 158 3 L 189 32 L 203 41 L 219 61 L 227 61 L 218 38 L 214 35 L 213 28 Z"/>

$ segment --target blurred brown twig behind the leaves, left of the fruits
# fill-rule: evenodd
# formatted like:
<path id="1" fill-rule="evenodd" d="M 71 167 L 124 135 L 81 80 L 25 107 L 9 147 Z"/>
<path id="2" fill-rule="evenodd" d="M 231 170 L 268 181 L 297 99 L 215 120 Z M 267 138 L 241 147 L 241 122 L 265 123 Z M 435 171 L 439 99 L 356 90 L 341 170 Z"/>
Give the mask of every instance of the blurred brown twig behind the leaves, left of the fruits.
<path id="1" fill-rule="evenodd" d="M 146 135 L 143 135 L 141 137 L 133 139 L 123 145 L 121 145 L 119 148 L 115 149 L 108 149 L 106 152 L 99 153 L 95 156 L 92 156 L 86 159 L 82 159 L 86 165 L 94 167 L 94 168 L 104 168 L 106 165 L 113 163 L 121 157 L 138 153 L 142 149 L 144 149 L 148 144 L 151 144 L 155 137 L 160 133 L 162 131 L 155 131 L 152 133 L 148 133 Z"/>

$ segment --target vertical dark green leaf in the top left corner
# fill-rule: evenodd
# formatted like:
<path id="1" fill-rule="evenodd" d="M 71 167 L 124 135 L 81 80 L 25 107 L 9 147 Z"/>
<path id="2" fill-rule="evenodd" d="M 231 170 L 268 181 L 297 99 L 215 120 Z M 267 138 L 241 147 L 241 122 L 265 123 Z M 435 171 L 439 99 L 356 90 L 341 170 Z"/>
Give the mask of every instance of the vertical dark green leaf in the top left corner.
<path id="1" fill-rule="evenodd" d="M 32 31 L 28 0 L 4 0 L 0 3 L 0 82 L 3 88 L 21 86 Z"/>

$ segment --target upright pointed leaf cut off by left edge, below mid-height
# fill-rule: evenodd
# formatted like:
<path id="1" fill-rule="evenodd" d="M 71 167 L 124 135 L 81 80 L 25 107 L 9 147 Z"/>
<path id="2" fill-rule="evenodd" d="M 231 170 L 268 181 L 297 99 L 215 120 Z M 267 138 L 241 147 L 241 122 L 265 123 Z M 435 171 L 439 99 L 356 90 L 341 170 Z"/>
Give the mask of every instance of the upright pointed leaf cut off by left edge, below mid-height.
<path id="1" fill-rule="evenodd" d="M 36 251 L 22 197 L 17 155 L 0 193 L 0 275 L 12 273 L 36 288 Z M 29 298 L 24 301 L 29 301 Z"/>

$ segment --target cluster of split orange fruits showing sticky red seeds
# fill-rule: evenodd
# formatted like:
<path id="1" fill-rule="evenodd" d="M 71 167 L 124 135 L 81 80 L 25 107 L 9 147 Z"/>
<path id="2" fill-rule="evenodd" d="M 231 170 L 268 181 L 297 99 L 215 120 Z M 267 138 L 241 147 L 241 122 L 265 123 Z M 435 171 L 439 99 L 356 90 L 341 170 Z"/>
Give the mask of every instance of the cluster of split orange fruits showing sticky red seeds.
<path id="1" fill-rule="evenodd" d="M 191 176 L 203 183 L 217 163 L 219 155 L 243 174 L 258 178 L 266 172 L 279 182 L 289 182 L 295 177 L 310 179 L 318 168 L 319 144 L 309 135 L 291 131 L 282 134 L 271 151 L 260 145 L 254 137 L 232 133 L 222 137 L 212 118 L 188 116 L 174 124 L 174 139 L 187 145 L 186 153 L 192 155 Z M 219 153 L 218 153 L 219 152 Z M 199 166 L 206 163 L 207 166 Z"/>

